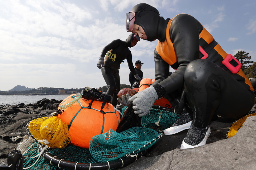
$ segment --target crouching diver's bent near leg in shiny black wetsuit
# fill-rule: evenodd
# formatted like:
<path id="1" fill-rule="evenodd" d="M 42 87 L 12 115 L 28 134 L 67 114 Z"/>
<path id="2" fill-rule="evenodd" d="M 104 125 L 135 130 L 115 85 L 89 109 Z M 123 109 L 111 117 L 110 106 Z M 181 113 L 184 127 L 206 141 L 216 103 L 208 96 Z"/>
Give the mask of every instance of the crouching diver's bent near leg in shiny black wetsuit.
<path id="1" fill-rule="evenodd" d="M 207 127 L 215 113 L 227 118 L 246 114 L 254 94 L 215 63 L 207 59 L 190 62 L 184 73 L 185 92 L 193 111 L 192 124 Z"/>

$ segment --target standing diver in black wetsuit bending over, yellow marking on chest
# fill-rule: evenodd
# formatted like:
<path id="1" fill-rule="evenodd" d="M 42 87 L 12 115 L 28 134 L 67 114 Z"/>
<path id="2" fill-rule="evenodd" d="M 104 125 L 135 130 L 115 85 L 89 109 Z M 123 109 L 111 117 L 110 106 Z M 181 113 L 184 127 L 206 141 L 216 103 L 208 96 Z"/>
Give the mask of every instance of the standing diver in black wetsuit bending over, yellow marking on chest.
<path id="1" fill-rule="evenodd" d="M 120 64 L 124 62 L 124 59 L 127 60 L 128 67 L 134 74 L 134 77 L 138 81 L 141 81 L 141 78 L 135 72 L 135 68 L 132 64 L 131 51 L 128 48 L 135 46 L 138 41 L 140 41 L 140 37 L 132 33 L 128 36 L 126 41 L 116 39 L 101 51 L 97 67 L 101 69 L 102 76 L 107 83 L 108 90 L 106 94 L 112 96 L 111 104 L 114 107 L 116 107 L 117 104 L 117 93 L 120 91 L 119 68 Z"/>

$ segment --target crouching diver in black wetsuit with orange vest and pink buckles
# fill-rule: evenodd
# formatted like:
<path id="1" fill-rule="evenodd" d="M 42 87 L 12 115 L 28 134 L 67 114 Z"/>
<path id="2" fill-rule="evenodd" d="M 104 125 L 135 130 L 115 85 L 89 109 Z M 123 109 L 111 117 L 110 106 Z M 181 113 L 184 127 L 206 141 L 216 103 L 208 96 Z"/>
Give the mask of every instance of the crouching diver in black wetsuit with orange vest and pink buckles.
<path id="1" fill-rule="evenodd" d="M 253 107 L 254 89 L 240 69 L 241 63 L 192 16 L 179 14 L 164 19 L 156 8 L 141 3 L 126 13 L 126 26 L 127 32 L 142 39 L 158 39 L 154 51 L 156 81 L 129 98 L 134 113 L 145 116 L 156 99 L 166 97 L 179 119 L 164 133 L 189 128 L 181 148 L 206 143 L 213 114 L 236 118 Z M 169 66 L 176 69 L 170 76 Z"/>

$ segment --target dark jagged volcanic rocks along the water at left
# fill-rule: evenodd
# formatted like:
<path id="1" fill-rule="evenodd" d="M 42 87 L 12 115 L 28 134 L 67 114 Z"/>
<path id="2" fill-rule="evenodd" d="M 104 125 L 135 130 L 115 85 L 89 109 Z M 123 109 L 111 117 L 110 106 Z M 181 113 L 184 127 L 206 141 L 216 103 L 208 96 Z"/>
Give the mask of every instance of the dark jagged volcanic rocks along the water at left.
<path id="1" fill-rule="evenodd" d="M 60 102 L 61 100 L 44 98 L 34 104 L 0 105 L 0 158 L 7 158 L 8 153 L 17 147 L 21 140 L 13 142 L 11 138 L 25 136 L 28 122 L 50 116 L 57 110 Z"/>

